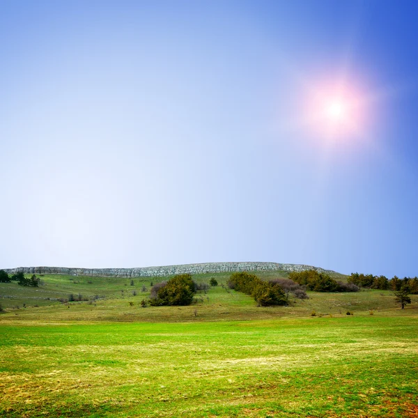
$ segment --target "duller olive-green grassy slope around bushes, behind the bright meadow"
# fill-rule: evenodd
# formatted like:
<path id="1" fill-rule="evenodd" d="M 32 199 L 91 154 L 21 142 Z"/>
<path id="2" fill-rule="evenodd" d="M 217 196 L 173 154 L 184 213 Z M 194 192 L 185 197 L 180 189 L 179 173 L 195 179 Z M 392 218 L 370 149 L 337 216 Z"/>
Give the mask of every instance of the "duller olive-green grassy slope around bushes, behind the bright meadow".
<path id="1" fill-rule="evenodd" d="M 287 272 L 261 272 L 265 279 L 286 277 Z M 194 276 L 196 281 L 208 282 L 210 277 L 216 277 L 219 284 L 226 283 L 227 273 L 199 274 Z M 201 321 L 201 320 L 245 320 L 268 319 L 282 316 L 310 316 L 312 311 L 317 315 L 332 314 L 343 316 L 346 311 L 355 314 L 369 314 L 372 309 L 375 314 L 398 314 L 400 309 L 394 302 L 391 291 L 365 290 L 358 293 L 314 293 L 309 292 L 309 300 L 292 300 L 289 307 L 256 307 L 254 300 L 248 295 L 217 286 L 211 288 L 207 294 L 199 292 L 196 304 L 190 307 L 140 307 L 144 297 L 148 297 L 150 281 L 161 279 L 134 279 L 134 286 L 130 286 L 130 279 L 103 277 L 70 277 L 63 275 L 47 275 L 42 277 L 44 282 L 40 288 L 25 288 L 15 282 L 0 284 L 0 303 L 6 309 L 6 314 L 0 316 L 16 320 L 118 320 L 118 321 Z M 147 291 L 142 293 L 142 286 Z M 136 291 L 137 295 L 132 293 Z M 62 304 L 56 300 L 68 298 L 70 293 L 92 298 L 101 298 L 95 302 L 71 302 Z M 48 299 L 49 298 L 49 299 Z M 134 302 L 130 307 L 129 302 Z M 26 308 L 23 308 L 26 304 Z M 34 307 L 38 305 L 38 307 Z M 17 309 L 19 307 L 19 309 Z M 197 309 L 196 316 L 194 309 Z M 418 314 L 418 295 L 412 295 L 412 304 L 408 312 Z"/>

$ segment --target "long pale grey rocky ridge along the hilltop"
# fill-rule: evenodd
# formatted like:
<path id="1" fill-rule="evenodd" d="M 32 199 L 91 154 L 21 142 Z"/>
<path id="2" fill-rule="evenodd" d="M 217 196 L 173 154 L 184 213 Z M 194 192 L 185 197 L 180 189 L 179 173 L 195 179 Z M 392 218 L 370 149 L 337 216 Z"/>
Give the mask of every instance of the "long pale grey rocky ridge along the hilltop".
<path id="1" fill-rule="evenodd" d="M 5 269 L 9 274 L 24 272 L 25 274 L 77 274 L 80 276 L 96 277 L 164 277 L 172 274 L 202 274 L 222 272 L 253 272 L 285 270 L 288 272 L 301 272 L 303 270 L 317 270 L 334 274 L 332 270 L 313 267 L 304 264 L 283 263 L 201 263 L 164 265 L 159 267 L 141 268 L 72 268 L 72 267 L 18 267 Z"/>

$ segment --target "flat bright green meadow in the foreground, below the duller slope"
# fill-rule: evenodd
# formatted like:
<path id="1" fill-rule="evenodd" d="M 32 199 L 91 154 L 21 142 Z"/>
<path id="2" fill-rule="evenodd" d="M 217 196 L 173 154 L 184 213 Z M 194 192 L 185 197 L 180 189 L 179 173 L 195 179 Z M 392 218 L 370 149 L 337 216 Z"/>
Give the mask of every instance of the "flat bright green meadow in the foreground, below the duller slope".
<path id="1" fill-rule="evenodd" d="M 417 325 L 417 316 L 6 321 L 0 415 L 413 417 Z"/>

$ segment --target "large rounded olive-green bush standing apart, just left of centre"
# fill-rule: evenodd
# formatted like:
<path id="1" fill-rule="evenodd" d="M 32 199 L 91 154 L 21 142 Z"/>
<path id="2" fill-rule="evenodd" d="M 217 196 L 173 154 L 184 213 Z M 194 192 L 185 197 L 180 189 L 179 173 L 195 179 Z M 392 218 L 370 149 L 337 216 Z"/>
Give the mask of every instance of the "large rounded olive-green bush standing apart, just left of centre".
<path id="1" fill-rule="evenodd" d="M 160 285 L 160 286 L 157 286 Z M 155 284 L 151 289 L 150 304 L 162 305 L 188 305 L 192 303 L 196 293 L 191 274 L 178 274 L 165 284 Z"/>

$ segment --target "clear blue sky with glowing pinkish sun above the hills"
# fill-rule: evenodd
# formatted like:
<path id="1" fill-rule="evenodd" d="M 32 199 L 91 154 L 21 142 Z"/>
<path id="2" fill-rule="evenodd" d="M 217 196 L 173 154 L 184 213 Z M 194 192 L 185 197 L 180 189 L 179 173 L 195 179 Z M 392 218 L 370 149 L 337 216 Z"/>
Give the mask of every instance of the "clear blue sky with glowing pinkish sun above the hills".
<path id="1" fill-rule="evenodd" d="M 1 1 L 0 268 L 418 275 L 417 13 Z"/>

